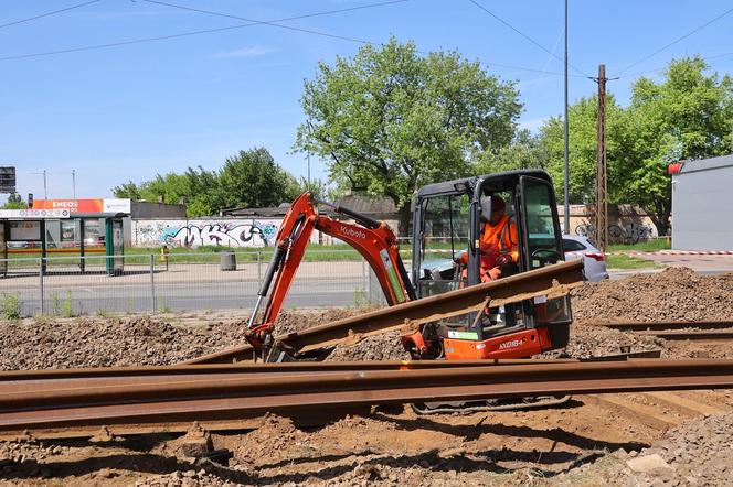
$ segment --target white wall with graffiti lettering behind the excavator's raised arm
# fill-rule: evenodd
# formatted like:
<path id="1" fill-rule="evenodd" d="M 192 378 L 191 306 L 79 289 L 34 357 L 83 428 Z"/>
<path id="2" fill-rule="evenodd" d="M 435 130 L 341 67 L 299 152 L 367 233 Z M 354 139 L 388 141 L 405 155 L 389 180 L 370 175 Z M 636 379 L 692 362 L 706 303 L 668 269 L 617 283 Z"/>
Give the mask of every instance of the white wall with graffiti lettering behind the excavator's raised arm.
<path id="1" fill-rule="evenodd" d="M 262 218 L 134 219 L 130 245 L 268 247 L 275 241 L 280 221 Z M 317 232 L 314 232 L 311 241 L 318 242 Z"/>

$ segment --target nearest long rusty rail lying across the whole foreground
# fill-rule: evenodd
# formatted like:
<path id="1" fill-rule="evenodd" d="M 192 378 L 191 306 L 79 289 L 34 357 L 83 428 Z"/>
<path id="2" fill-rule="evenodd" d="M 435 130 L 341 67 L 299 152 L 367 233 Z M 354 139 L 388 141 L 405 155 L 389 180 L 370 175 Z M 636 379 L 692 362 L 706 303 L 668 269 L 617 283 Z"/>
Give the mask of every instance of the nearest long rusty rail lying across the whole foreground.
<path id="1" fill-rule="evenodd" d="M 180 377 L 157 385 L 0 393 L 0 429 L 252 418 L 344 407 L 516 396 L 733 388 L 733 360 L 641 359 L 364 370 L 273 377 Z"/>

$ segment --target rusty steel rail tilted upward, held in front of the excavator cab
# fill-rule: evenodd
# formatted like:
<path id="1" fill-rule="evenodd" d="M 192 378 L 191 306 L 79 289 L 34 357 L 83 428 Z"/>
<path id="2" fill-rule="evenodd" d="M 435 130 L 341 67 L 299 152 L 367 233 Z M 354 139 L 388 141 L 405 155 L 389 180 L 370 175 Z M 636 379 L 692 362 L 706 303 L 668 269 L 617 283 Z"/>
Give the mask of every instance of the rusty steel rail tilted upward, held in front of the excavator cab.
<path id="1" fill-rule="evenodd" d="M 561 262 L 498 281 L 476 284 L 339 320 L 304 332 L 279 335 L 276 339 L 297 350 L 308 350 L 336 345 L 353 335 L 369 336 L 397 329 L 406 322 L 427 323 L 478 311 L 484 307 L 488 296 L 491 297 L 493 304 L 498 305 L 502 300 L 509 302 L 537 295 L 563 295 L 582 280 L 582 261 Z M 252 356 L 253 348 L 244 345 L 187 360 L 183 364 L 231 362 L 251 359 Z"/>

